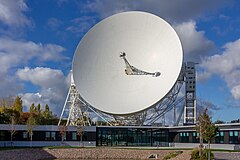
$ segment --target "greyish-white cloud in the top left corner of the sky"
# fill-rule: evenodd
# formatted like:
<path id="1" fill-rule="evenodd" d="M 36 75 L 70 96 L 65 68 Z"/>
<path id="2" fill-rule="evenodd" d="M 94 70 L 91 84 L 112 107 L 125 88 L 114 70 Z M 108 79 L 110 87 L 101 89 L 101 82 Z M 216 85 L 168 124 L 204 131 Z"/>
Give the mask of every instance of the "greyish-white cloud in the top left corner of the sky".
<path id="1" fill-rule="evenodd" d="M 0 21 L 8 26 L 29 26 L 31 21 L 24 15 L 28 11 L 25 0 L 1 0 Z"/>

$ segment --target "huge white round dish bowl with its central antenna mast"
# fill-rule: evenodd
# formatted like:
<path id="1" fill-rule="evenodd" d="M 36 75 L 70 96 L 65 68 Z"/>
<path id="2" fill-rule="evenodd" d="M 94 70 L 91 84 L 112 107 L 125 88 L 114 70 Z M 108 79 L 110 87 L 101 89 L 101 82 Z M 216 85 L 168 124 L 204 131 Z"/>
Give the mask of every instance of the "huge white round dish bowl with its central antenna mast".
<path id="1" fill-rule="evenodd" d="M 110 114 L 131 114 L 159 102 L 182 66 L 174 29 L 153 14 L 131 11 L 110 16 L 80 41 L 73 78 L 81 97 Z"/>

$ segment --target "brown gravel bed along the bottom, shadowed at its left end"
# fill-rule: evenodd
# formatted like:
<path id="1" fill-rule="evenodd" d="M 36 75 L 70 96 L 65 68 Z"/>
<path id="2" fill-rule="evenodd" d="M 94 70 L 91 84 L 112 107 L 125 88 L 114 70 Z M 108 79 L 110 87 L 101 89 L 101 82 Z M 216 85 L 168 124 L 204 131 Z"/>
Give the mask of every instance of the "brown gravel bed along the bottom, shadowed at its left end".
<path id="1" fill-rule="evenodd" d="M 1 160 L 53 160 L 53 159 L 148 159 L 153 154 L 162 159 L 173 150 L 140 150 L 114 148 L 14 149 L 0 151 Z M 173 160 L 189 160 L 186 150 Z"/>

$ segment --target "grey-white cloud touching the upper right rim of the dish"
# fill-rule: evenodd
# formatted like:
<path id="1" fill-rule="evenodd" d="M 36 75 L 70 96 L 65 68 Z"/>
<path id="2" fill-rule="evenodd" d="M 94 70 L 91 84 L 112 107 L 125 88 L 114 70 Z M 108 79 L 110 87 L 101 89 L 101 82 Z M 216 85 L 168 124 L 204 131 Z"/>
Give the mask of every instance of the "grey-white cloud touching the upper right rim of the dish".
<path id="1" fill-rule="evenodd" d="M 185 61 L 200 62 L 202 57 L 214 51 L 214 43 L 206 38 L 204 31 L 197 31 L 196 22 L 183 22 L 174 28 L 181 39 Z"/>

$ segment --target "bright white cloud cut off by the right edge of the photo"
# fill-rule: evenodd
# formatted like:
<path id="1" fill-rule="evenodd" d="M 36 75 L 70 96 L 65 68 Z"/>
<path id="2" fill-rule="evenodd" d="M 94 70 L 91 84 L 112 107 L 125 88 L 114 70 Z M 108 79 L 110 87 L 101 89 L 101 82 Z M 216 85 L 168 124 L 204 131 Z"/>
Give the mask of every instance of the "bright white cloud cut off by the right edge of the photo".
<path id="1" fill-rule="evenodd" d="M 223 46 L 223 52 L 205 58 L 201 68 L 204 74 L 219 75 L 235 99 L 240 100 L 240 39 Z M 210 76 L 209 76 L 210 77 Z"/>

